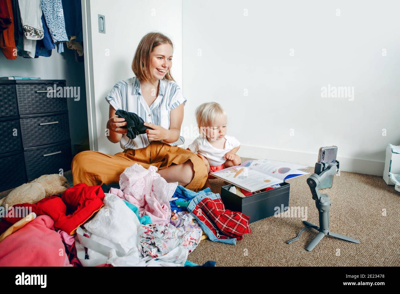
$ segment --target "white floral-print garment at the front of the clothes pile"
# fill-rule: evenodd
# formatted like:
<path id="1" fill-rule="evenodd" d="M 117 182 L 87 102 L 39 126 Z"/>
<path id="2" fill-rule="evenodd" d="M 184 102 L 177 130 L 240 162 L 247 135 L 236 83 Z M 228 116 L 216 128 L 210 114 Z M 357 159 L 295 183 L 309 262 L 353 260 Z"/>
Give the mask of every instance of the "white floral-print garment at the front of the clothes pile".
<path id="1" fill-rule="evenodd" d="M 146 224 L 139 228 L 139 251 L 144 257 L 157 258 L 168 254 L 179 246 L 183 246 L 192 252 L 200 243 L 202 229 L 197 221 L 186 214 L 182 226 L 176 228 L 173 224 L 160 226 L 158 224 Z"/>

